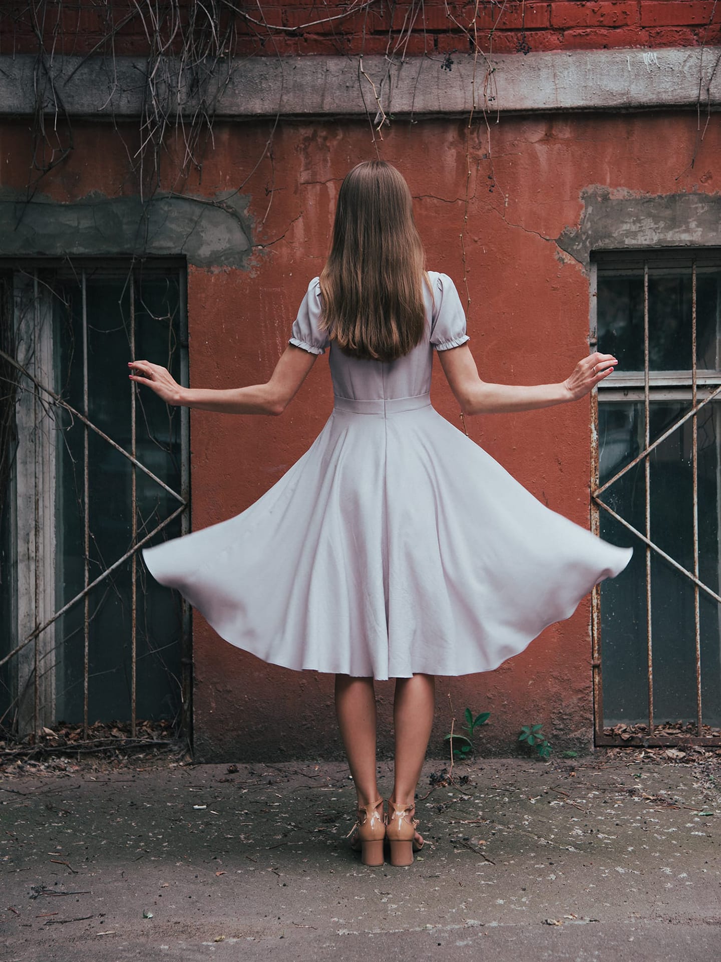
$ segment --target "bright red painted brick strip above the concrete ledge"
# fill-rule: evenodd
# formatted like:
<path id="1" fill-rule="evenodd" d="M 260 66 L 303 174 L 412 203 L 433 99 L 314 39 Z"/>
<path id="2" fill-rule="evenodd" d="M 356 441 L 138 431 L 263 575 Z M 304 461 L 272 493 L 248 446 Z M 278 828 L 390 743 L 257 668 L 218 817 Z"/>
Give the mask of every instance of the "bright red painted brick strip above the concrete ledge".
<path id="1" fill-rule="evenodd" d="M 87 54 L 113 28 L 116 54 L 142 54 L 153 18 L 144 3 L 114 0 L 50 7 L 40 18 L 48 48 Z M 155 9 L 153 3 L 149 5 Z M 182 4 L 187 7 L 187 2 Z M 0 11 L 0 53 L 33 52 L 37 39 L 28 5 L 11 2 Z M 238 3 L 229 52 L 290 54 L 467 53 L 476 46 L 495 53 L 577 50 L 596 47 L 696 46 L 718 43 L 721 4 L 713 0 L 480 0 L 479 3 L 356 4 L 317 0 Z M 130 15 L 132 14 L 132 16 Z M 227 17 L 221 16 L 221 29 Z M 196 5 L 196 23 L 204 25 Z M 127 19 L 127 22 L 125 22 Z M 165 25 L 168 20 L 166 19 Z M 187 18 L 184 18 L 187 22 Z M 114 29 L 117 28 L 117 29 Z M 171 44 L 172 46 L 172 44 Z M 100 49 L 104 49 L 101 47 Z M 110 49 L 108 47 L 108 49 Z"/>

